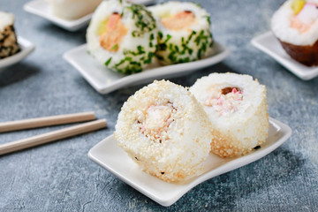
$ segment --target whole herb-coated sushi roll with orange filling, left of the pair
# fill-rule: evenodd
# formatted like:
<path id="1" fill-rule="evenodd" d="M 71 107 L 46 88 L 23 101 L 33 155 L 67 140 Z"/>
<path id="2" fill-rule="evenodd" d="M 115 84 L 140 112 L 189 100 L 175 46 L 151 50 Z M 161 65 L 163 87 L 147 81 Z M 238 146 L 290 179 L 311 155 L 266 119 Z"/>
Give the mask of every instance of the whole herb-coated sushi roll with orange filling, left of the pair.
<path id="1" fill-rule="evenodd" d="M 143 5 L 104 1 L 87 29 L 87 49 L 113 71 L 141 72 L 155 56 L 156 33 L 155 19 Z"/>

